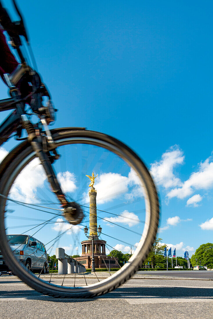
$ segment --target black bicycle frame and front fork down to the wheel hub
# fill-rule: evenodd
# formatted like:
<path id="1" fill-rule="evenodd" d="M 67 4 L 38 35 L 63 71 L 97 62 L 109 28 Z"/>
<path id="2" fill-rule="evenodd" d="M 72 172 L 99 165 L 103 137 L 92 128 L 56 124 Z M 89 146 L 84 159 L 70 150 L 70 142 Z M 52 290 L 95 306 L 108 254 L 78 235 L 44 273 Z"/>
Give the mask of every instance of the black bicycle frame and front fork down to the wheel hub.
<path id="1" fill-rule="evenodd" d="M 15 4 L 15 0 L 13 0 L 13 3 Z M 15 8 L 20 16 L 16 4 Z M 22 129 L 26 129 L 28 142 L 31 144 L 36 157 L 40 159 L 51 189 L 64 208 L 62 214 L 71 224 L 77 225 L 83 219 L 83 211 L 77 203 L 67 201 L 51 165 L 59 158 L 51 132 L 48 129 L 48 123 L 54 121 L 55 112 L 50 101 L 51 97 L 45 85 L 41 82 L 39 74 L 28 66 L 20 49 L 22 45 L 20 35 L 28 41 L 23 19 L 20 16 L 18 23 L 12 22 L 0 2 L 0 21 L 10 35 L 12 46 L 17 50 L 21 61 L 12 74 L 4 74 L 5 82 L 10 88 L 11 98 L 0 101 L 0 112 L 10 109 L 14 109 L 14 111 L 0 125 L 0 146 L 7 141 L 14 131 L 16 131 L 18 137 L 21 137 Z M 21 83 L 27 88 L 27 96 L 23 97 L 21 95 Z M 26 90 L 24 91 L 26 93 Z M 43 106 L 42 103 L 43 96 L 49 98 L 49 103 L 46 106 Z M 41 120 L 40 124 L 34 125 L 30 122 L 28 114 L 25 112 L 25 104 L 29 104 L 33 114 L 38 115 Z"/>

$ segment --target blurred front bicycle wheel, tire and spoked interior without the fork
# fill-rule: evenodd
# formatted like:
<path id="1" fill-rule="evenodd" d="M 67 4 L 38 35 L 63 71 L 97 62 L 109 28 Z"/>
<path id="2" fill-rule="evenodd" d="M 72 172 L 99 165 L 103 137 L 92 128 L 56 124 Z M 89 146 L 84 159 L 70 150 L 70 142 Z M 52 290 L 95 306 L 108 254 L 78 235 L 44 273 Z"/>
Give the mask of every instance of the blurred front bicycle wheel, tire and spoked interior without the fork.
<path id="1" fill-rule="evenodd" d="M 35 290 L 61 298 L 94 297 L 115 289 L 142 266 L 158 228 L 157 192 L 141 159 L 113 137 L 72 128 L 52 130 L 52 136 L 61 154 L 52 164 L 57 178 L 67 198 L 81 205 L 84 218 L 79 225 L 72 226 L 62 216 L 60 203 L 49 189 L 43 167 L 25 141 L 9 153 L 0 167 L 0 250 L 11 271 Z M 97 277 L 94 281 L 85 275 L 83 281 L 79 278 L 76 281 L 75 275 L 67 280 L 66 276 L 56 278 L 27 271 L 17 255 L 20 246 L 14 248 L 13 245 L 18 244 L 8 241 L 8 235 L 36 237 L 45 244 L 49 255 L 57 247 L 64 247 L 68 255 L 79 255 L 81 242 L 87 240 L 83 228 L 89 224 L 90 216 L 87 184 L 90 181 L 85 175 L 91 175 L 92 171 L 98 174 L 94 184 L 97 219 L 102 225 L 100 239 L 106 242 L 106 252 L 96 251 L 95 258 L 99 260 L 99 267 L 108 270 L 109 277 L 104 280 Z M 88 247 L 80 253 L 81 260 L 91 260 Z M 96 250 L 100 250 L 99 247 L 97 245 Z M 106 255 L 112 257 L 111 269 L 119 268 L 118 271 L 109 272 Z M 38 263 L 43 269 L 41 259 Z"/>

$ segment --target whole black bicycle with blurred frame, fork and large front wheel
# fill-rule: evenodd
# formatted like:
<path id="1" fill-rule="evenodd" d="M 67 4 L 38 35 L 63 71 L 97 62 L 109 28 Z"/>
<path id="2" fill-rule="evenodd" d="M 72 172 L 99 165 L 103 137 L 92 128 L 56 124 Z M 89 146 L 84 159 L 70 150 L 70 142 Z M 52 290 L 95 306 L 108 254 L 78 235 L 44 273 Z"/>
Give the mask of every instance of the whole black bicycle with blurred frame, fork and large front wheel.
<path id="1" fill-rule="evenodd" d="M 28 35 L 15 0 L 13 4 L 20 17 L 18 22 L 12 22 L 0 3 L 1 24 L 20 58 L 17 69 L 10 75 L 4 75 L 11 98 L 0 101 L 0 111 L 14 111 L 0 126 L 0 145 L 13 133 L 22 142 L 4 158 L 0 166 L 0 250 L 12 273 L 41 293 L 61 298 L 98 296 L 123 284 L 145 261 L 159 223 L 158 194 L 142 160 L 114 137 L 80 127 L 49 129 L 48 125 L 55 121 L 56 110 L 40 75 L 28 65 L 23 55 L 24 42 L 21 36 L 28 43 Z M 31 88 L 31 92 L 24 97 L 20 97 L 17 87 L 22 79 Z M 33 116 L 36 116 L 34 122 Z M 25 137 L 22 137 L 23 131 Z M 79 168 L 80 165 L 82 168 Z M 67 240 L 72 236 L 70 249 L 73 253 L 78 248 L 80 237 L 84 238 L 82 230 L 88 222 L 85 220 L 89 214 L 88 187 L 84 177 L 92 170 L 99 172 L 97 204 L 102 209 L 97 210 L 98 219 L 101 219 L 108 232 L 102 233 L 109 240 L 106 247 L 109 251 L 113 250 L 111 255 L 114 256 L 121 247 L 119 245 L 129 245 L 125 246 L 128 251 L 131 244 L 134 248 L 132 256 L 129 255 L 128 262 L 123 266 L 117 262 L 120 269 L 114 274 L 106 265 L 109 277 L 102 281 L 95 274 L 96 282 L 89 284 L 90 279 L 84 276 L 84 286 L 76 286 L 75 278 L 74 284 L 67 286 L 64 284 L 65 276 L 61 279 L 61 285 L 52 280 L 52 275 L 47 280 L 40 274 L 35 276 L 15 257 L 7 234 L 11 229 L 15 229 L 15 232 L 21 229 L 22 234 L 30 233 L 33 236 L 39 233 L 48 238 L 53 231 L 57 231 L 57 236 L 49 238 L 51 240 L 45 244 L 49 245 L 49 253 L 59 245 L 63 235 L 70 236 Z M 110 202 L 113 206 L 105 208 L 106 203 Z M 123 212 L 122 207 L 125 208 Z M 16 211 L 19 216 L 14 215 Z M 141 220 L 138 215 L 144 213 L 146 216 Z M 34 224 L 27 225 L 30 221 Z M 121 244 L 114 245 L 115 241 Z"/>

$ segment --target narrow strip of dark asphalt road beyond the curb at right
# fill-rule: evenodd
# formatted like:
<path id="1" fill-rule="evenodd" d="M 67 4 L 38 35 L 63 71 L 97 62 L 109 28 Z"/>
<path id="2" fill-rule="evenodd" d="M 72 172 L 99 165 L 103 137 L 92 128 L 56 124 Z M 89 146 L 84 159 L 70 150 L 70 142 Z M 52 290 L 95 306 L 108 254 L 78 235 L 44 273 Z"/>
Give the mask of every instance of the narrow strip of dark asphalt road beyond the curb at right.
<path id="1" fill-rule="evenodd" d="M 142 276 L 160 276 L 174 278 L 204 278 L 213 280 L 213 270 L 180 270 L 180 271 L 137 271 L 137 274 Z"/>

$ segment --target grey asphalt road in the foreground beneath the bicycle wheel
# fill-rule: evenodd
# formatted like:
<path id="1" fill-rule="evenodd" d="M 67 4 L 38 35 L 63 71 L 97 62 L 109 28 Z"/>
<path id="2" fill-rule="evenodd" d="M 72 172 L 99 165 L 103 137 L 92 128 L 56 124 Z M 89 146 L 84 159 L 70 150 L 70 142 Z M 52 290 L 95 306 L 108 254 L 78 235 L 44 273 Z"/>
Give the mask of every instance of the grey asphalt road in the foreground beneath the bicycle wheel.
<path id="1" fill-rule="evenodd" d="M 103 273 L 98 275 L 106 276 Z M 139 279 L 142 275 L 135 275 L 106 295 L 78 300 L 44 296 L 22 283 L 18 277 L 3 275 L 0 277 L 1 318 L 212 318 L 213 281 L 208 278 L 166 279 L 155 275 Z M 55 275 L 52 280 L 60 284 L 62 277 Z M 73 280 L 68 275 L 64 284 L 72 284 Z M 85 285 L 81 275 L 75 280 L 79 286 Z M 95 280 L 92 275 L 87 275 L 88 282 Z"/>

